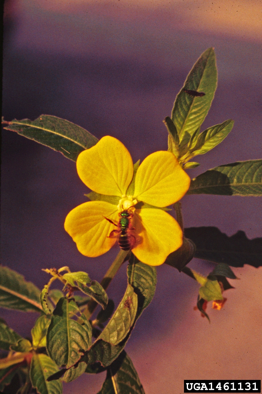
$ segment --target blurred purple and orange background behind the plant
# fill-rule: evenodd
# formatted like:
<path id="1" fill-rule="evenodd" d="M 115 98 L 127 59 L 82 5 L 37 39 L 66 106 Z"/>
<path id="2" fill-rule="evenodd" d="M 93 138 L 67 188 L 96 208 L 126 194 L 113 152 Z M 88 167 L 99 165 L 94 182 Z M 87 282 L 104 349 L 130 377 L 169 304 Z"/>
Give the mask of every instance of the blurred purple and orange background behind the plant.
<path id="1" fill-rule="evenodd" d="M 229 118 L 235 126 L 188 173 L 261 158 L 258 3 L 6 0 L 4 118 L 55 115 L 97 138 L 119 138 L 134 162 L 143 160 L 167 149 L 162 121 L 196 59 L 213 46 L 218 89 L 202 130 Z M 1 264 L 39 288 L 48 281 L 41 268 L 64 265 L 101 280 L 117 247 L 87 258 L 64 231 L 68 212 L 86 201 L 75 163 L 3 130 L 1 171 Z M 192 195 L 182 203 L 185 227 L 261 236 L 258 197 Z M 213 268 L 198 259 L 189 266 L 202 274 Z M 261 379 L 262 269 L 234 271 L 242 280 L 231 281 L 236 290 L 225 293 L 224 309 L 209 306 L 209 325 L 193 311 L 198 284 L 169 266 L 158 267 L 156 295 L 126 346 L 147 394 L 181 393 L 183 379 Z M 108 295 L 117 303 L 125 288 L 126 265 Z M 1 316 L 24 336 L 37 317 L 3 309 Z M 104 377 L 84 375 L 64 392 L 96 393 Z"/>

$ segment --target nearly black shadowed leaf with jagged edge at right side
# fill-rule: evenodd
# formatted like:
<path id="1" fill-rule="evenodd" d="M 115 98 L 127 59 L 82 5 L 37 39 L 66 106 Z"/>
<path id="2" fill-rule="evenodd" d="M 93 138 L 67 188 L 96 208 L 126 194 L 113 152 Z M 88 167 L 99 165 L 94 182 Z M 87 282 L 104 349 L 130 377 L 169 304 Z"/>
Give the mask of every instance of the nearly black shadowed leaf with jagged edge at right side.
<path id="1" fill-rule="evenodd" d="M 194 257 L 232 267 L 262 265 L 262 238 L 249 240 L 244 231 L 229 237 L 216 227 L 190 227 L 185 229 L 185 236 L 196 245 Z"/>

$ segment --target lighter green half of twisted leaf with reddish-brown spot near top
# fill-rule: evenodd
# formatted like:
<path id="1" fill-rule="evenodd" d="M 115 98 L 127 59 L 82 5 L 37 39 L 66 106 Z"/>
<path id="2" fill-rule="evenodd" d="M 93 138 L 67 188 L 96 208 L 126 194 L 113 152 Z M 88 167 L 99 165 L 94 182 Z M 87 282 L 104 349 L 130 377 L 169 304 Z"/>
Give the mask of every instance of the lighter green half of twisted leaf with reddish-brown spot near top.
<path id="1" fill-rule="evenodd" d="M 97 339 L 103 339 L 112 345 L 119 344 L 132 327 L 136 312 L 137 294 L 134 292 L 134 288 L 128 284 L 121 303 Z"/>

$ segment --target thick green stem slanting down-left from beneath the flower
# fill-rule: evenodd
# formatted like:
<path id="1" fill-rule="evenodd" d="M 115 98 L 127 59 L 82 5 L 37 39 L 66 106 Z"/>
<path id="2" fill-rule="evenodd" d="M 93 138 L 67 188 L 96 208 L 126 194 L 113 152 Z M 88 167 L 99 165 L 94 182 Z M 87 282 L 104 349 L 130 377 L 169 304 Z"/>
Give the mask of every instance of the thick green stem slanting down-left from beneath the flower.
<path id="1" fill-rule="evenodd" d="M 115 274 L 123 264 L 125 260 L 127 260 L 126 256 L 130 253 L 130 251 L 119 251 L 118 255 L 116 256 L 115 260 L 112 262 L 110 268 L 106 271 L 106 274 L 104 275 L 102 281 L 101 281 L 101 286 L 106 290 L 114 278 Z M 97 302 L 94 299 L 90 299 L 88 301 L 88 304 L 86 306 L 86 309 L 84 309 L 83 313 L 85 314 L 87 319 L 90 319 L 90 317 L 93 314 L 93 311 L 97 307 Z"/>

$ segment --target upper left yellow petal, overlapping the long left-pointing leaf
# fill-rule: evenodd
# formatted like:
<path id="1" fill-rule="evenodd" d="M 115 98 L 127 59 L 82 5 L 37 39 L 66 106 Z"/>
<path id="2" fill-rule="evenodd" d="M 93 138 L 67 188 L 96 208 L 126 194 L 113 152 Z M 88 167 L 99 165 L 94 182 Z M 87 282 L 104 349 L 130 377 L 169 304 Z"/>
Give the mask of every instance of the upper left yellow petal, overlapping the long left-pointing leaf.
<path id="1" fill-rule="evenodd" d="M 77 158 L 77 173 L 96 193 L 122 196 L 134 173 L 130 153 L 118 139 L 105 136 Z"/>

